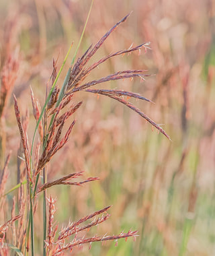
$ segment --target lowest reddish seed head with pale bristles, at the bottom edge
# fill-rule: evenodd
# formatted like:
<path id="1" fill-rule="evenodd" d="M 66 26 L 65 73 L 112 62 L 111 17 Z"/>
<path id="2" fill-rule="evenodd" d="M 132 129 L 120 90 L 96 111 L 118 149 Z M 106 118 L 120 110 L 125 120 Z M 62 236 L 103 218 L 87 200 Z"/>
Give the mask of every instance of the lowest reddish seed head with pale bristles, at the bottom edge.
<path id="1" fill-rule="evenodd" d="M 48 239 L 45 241 L 46 247 L 48 248 L 48 255 L 61 255 L 65 251 L 73 251 L 75 247 L 79 247 L 81 245 L 84 245 L 85 243 L 89 244 L 89 249 L 91 248 L 91 243 L 93 242 L 104 242 L 108 240 L 114 240 L 117 241 L 121 238 L 128 238 L 128 237 L 136 237 L 137 231 L 131 231 L 129 230 L 127 233 L 121 232 L 120 234 L 113 235 L 113 236 L 107 236 L 106 234 L 103 236 L 92 236 L 90 238 L 85 238 L 83 236 L 82 232 L 85 230 L 86 233 L 92 228 L 93 226 L 97 226 L 98 224 L 101 224 L 102 222 L 105 222 L 108 218 L 110 218 L 110 214 L 107 214 L 107 210 L 110 209 L 111 206 L 107 206 L 97 212 L 94 212 L 93 214 L 90 214 L 88 216 L 85 216 L 77 222 L 70 223 L 69 226 L 62 228 L 61 232 L 59 233 L 59 236 L 56 240 L 54 240 L 54 237 L 56 236 L 56 230 L 57 228 L 54 227 L 54 213 L 56 212 L 54 203 L 56 200 L 48 199 L 49 204 L 49 222 L 48 222 Z M 101 217 L 97 217 L 100 214 L 103 214 Z M 91 220 L 94 218 L 93 220 Z M 81 226 L 84 222 L 87 222 L 87 220 L 91 220 L 90 223 L 85 224 Z M 73 236 L 75 234 L 75 236 Z M 73 236 L 73 238 L 71 238 Z"/>

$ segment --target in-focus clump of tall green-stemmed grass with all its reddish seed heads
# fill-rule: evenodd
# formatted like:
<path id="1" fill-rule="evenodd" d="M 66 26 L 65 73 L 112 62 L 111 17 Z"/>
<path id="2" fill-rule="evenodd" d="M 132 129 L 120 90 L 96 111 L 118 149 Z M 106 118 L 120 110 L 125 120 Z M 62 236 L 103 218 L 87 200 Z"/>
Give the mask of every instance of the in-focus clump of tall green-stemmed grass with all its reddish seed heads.
<path id="1" fill-rule="evenodd" d="M 91 7 L 92 5 L 93 5 L 93 1 L 91 2 Z M 110 36 L 110 34 L 112 34 L 112 32 L 114 32 L 114 30 L 116 30 L 116 28 L 120 26 L 120 24 L 122 24 L 128 19 L 128 16 L 130 15 L 128 14 L 124 18 L 122 18 L 120 22 L 116 23 L 112 28 L 110 28 L 110 30 L 108 30 L 104 34 L 104 36 L 102 36 L 94 46 L 92 45 L 89 46 L 87 51 L 85 51 L 85 53 L 81 57 L 77 58 L 77 61 L 75 62 L 75 59 L 79 50 L 79 46 L 81 44 L 81 41 L 83 40 L 83 34 L 87 26 L 87 21 L 89 20 L 91 7 L 87 15 L 87 20 L 85 22 L 85 26 L 83 28 L 81 38 L 77 45 L 75 55 L 73 56 L 71 65 L 69 67 L 69 70 L 67 71 L 67 75 L 64 78 L 64 82 L 61 90 L 58 88 L 58 85 L 57 85 L 58 77 L 60 76 L 60 73 L 62 72 L 64 64 L 66 63 L 69 57 L 69 53 L 71 51 L 71 47 L 73 44 L 71 44 L 69 51 L 67 52 L 67 55 L 64 58 L 64 61 L 58 73 L 56 72 L 56 61 L 53 61 L 53 71 L 49 79 L 49 82 L 52 79 L 52 84 L 50 86 L 49 93 L 48 93 L 48 85 L 46 86 L 47 88 L 46 100 L 45 100 L 44 106 L 42 106 L 42 110 L 40 110 L 40 103 L 35 98 L 33 90 L 31 90 L 33 113 L 34 113 L 34 118 L 36 119 L 36 128 L 34 130 L 31 148 L 29 146 L 26 129 L 24 129 L 24 125 L 22 124 L 22 120 L 19 113 L 19 107 L 17 104 L 17 99 L 14 96 L 15 115 L 17 118 L 19 133 L 22 139 L 22 146 L 24 148 L 24 156 L 25 156 L 26 172 L 27 172 L 28 195 L 29 195 L 29 202 L 27 205 L 28 222 L 26 224 L 26 227 L 27 227 L 26 253 L 28 254 L 29 241 L 30 241 L 31 253 L 33 256 L 34 256 L 34 249 L 35 249 L 34 248 L 34 212 L 36 211 L 36 199 L 38 197 L 38 193 L 40 192 L 43 192 L 43 222 L 44 222 L 43 255 L 46 255 L 47 252 L 48 252 L 48 255 L 56 255 L 58 253 L 61 253 L 62 251 L 66 251 L 67 249 L 73 249 L 73 247 L 75 248 L 85 243 L 115 240 L 118 238 L 128 238 L 129 236 L 133 236 L 135 238 L 136 236 L 136 231 L 129 230 L 127 233 L 121 232 L 120 234 L 115 236 L 103 236 L 103 237 L 93 236 L 91 238 L 85 238 L 85 239 L 80 238 L 77 241 L 76 241 L 76 238 L 73 238 L 72 240 L 73 242 L 70 242 L 68 244 L 66 244 L 65 242 L 62 243 L 62 241 L 66 241 L 75 232 L 81 232 L 82 230 L 87 230 L 92 226 L 95 226 L 107 220 L 107 218 L 109 218 L 109 215 L 106 215 L 105 217 L 97 218 L 97 220 L 92 221 L 91 224 L 81 226 L 83 222 L 91 219 L 93 216 L 99 216 L 99 214 L 106 212 L 106 210 L 110 208 L 110 207 L 105 207 L 103 210 L 99 210 L 89 215 L 87 218 L 82 218 L 81 220 L 74 222 L 73 224 L 69 224 L 68 227 L 64 230 L 64 235 L 60 235 L 58 236 L 58 238 L 55 238 L 57 227 L 56 226 L 54 227 L 53 218 L 54 218 L 54 212 L 55 212 L 54 203 L 56 200 L 52 199 L 52 197 L 47 199 L 48 197 L 46 196 L 46 190 L 49 187 L 53 187 L 56 185 L 82 185 L 84 183 L 97 180 L 97 177 L 89 177 L 85 181 L 81 181 L 78 183 L 70 181 L 71 179 L 75 179 L 81 176 L 82 172 L 75 172 L 73 174 L 66 175 L 53 182 L 47 181 L 46 179 L 46 176 L 47 176 L 46 168 L 48 166 L 48 162 L 50 162 L 52 156 L 54 156 L 54 154 L 56 154 L 58 150 L 63 148 L 64 145 L 69 141 L 69 136 L 71 134 L 73 126 L 75 125 L 75 120 L 73 120 L 70 123 L 69 128 L 64 133 L 64 135 L 62 135 L 64 124 L 69 121 L 69 117 L 71 117 L 73 113 L 75 113 L 82 104 L 82 102 L 78 102 L 77 104 L 72 103 L 73 94 L 77 92 L 90 92 L 91 94 L 101 94 L 101 96 L 107 96 L 109 98 L 117 100 L 118 102 L 128 106 L 128 108 L 134 110 L 134 112 L 138 113 L 138 115 L 143 117 L 146 121 L 148 121 L 148 123 L 150 123 L 150 125 L 153 125 L 153 127 L 155 127 L 158 131 L 163 133 L 163 135 L 165 135 L 169 139 L 169 136 L 160 127 L 160 125 L 157 125 L 157 123 L 155 123 L 155 121 L 153 121 L 145 113 L 143 113 L 142 110 L 136 108 L 134 104 L 128 101 L 128 98 L 136 98 L 139 100 L 145 100 L 146 102 L 151 102 L 144 96 L 141 96 L 140 94 L 137 94 L 134 92 L 128 92 L 125 90 L 92 89 L 92 87 L 94 87 L 95 85 L 99 85 L 104 82 L 113 81 L 113 80 L 137 77 L 141 81 L 142 79 L 144 79 L 144 77 L 148 77 L 148 74 L 146 74 L 144 70 L 129 69 L 129 70 L 116 71 L 116 73 L 112 73 L 105 77 L 94 79 L 90 82 L 84 82 L 85 78 L 89 76 L 91 71 L 93 71 L 101 63 L 104 63 L 108 59 L 111 59 L 112 57 L 116 57 L 119 55 L 130 54 L 135 51 L 140 51 L 142 48 L 147 49 L 149 45 L 148 42 L 145 42 L 138 46 L 134 46 L 134 47 L 130 46 L 126 50 L 118 51 L 116 53 L 112 53 L 110 55 L 102 57 L 101 59 L 99 59 L 99 61 L 93 63 L 92 65 L 87 66 L 91 57 L 95 55 L 95 53 L 101 47 L 101 45 L 107 39 L 107 37 Z M 124 99 L 124 97 L 126 98 L 126 100 Z M 70 104 L 69 110 L 64 110 L 65 107 L 68 106 L 69 104 Z M 34 143 L 36 141 L 37 132 L 38 132 L 38 142 L 35 146 Z M 40 143 L 42 143 L 42 154 L 39 154 Z M 40 181 L 41 173 L 43 178 L 40 184 L 39 181 Z M 47 200 L 50 204 L 49 214 L 46 210 Z M 47 215 L 49 218 L 48 222 L 46 220 Z M 47 223 L 48 223 L 48 233 L 46 231 Z M 54 239 L 56 239 L 55 242 L 53 242 Z"/>

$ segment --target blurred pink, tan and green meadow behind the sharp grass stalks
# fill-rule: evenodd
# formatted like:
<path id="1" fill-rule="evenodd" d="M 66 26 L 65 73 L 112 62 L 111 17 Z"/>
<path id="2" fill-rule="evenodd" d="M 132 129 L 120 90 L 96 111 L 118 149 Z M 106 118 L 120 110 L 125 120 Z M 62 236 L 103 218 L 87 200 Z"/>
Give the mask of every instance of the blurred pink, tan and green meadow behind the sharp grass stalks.
<path id="1" fill-rule="evenodd" d="M 89 5 L 87 0 L 0 2 L 1 63 L 17 47 L 22 57 L 14 88 L 22 113 L 28 108 L 32 117 L 30 85 L 44 102 L 52 58 L 59 55 L 60 66 L 71 42 L 77 45 Z M 84 104 L 73 136 L 50 163 L 49 179 L 85 170 L 86 177 L 97 176 L 101 181 L 50 189 L 48 194 L 58 198 L 55 219 L 67 225 L 69 220 L 113 205 L 112 218 L 93 232 L 138 230 L 135 242 L 95 243 L 78 255 L 214 255 L 215 1 L 95 0 L 79 55 L 130 11 L 128 22 L 107 39 L 95 58 L 128 49 L 132 43 L 150 41 L 152 50 L 112 59 L 91 77 L 122 69 L 155 74 L 142 83 L 134 79 L 103 88 L 129 89 L 153 100 L 155 105 L 136 102 L 136 106 L 165 124 L 172 141 L 118 102 L 79 94 Z M 11 100 L 6 113 L 6 152 L 13 150 L 8 189 L 16 182 L 16 127 Z M 42 213 L 40 208 L 42 203 L 38 205 Z M 40 214 L 36 218 L 40 223 Z M 41 230 L 36 226 L 38 255 Z"/>

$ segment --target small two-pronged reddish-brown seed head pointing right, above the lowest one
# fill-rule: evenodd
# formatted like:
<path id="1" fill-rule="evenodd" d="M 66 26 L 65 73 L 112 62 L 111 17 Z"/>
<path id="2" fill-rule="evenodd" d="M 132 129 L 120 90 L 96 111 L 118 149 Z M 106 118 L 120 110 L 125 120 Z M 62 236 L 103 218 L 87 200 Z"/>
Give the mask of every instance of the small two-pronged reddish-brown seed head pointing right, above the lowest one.
<path id="1" fill-rule="evenodd" d="M 70 182 L 71 179 L 75 179 L 79 176 L 83 175 L 83 171 L 82 172 L 75 172 L 75 173 L 71 173 L 68 174 L 60 179 L 57 179 L 55 181 L 51 181 L 48 183 L 45 183 L 44 185 L 41 185 L 40 187 L 38 187 L 38 191 L 37 193 L 40 193 L 41 191 L 44 191 L 45 189 L 48 189 L 49 187 L 55 186 L 55 185 L 76 185 L 76 186 L 81 186 L 84 183 L 88 183 L 90 181 L 97 181 L 99 180 L 99 178 L 97 177 L 89 177 L 88 179 L 86 179 L 85 181 L 80 181 L 80 182 Z"/>

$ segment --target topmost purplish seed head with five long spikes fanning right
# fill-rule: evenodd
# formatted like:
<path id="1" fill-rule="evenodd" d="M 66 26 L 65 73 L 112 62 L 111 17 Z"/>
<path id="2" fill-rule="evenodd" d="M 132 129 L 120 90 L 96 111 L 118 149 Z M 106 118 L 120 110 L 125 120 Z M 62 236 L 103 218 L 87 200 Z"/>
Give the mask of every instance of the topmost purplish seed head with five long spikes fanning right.
<path id="1" fill-rule="evenodd" d="M 108 36 L 122 23 L 125 22 L 130 14 L 126 15 L 120 22 L 116 23 L 98 42 L 95 44 L 95 46 L 89 46 L 89 49 L 82 55 L 82 57 L 79 57 L 77 59 L 77 62 L 73 65 L 73 68 L 71 69 L 69 82 L 67 84 L 67 87 L 64 91 L 64 99 L 67 98 L 69 95 L 74 94 L 75 92 L 91 92 L 95 94 L 101 94 L 104 96 L 108 96 L 110 98 L 113 98 L 114 100 L 118 100 L 122 104 L 125 104 L 132 110 L 134 110 L 138 115 L 146 119 L 148 123 L 153 125 L 158 131 L 163 133 L 168 139 L 170 139 L 169 135 L 159 126 L 155 121 L 150 119 L 146 114 L 144 114 L 141 110 L 133 106 L 130 102 L 120 98 L 121 96 L 127 96 L 132 98 L 137 98 L 140 100 L 146 100 L 147 102 L 151 102 L 150 100 L 146 99 L 144 96 L 140 96 L 140 94 L 136 94 L 134 92 L 125 92 L 124 90 L 102 90 L 102 89 L 89 89 L 92 86 L 95 86 L 97 84 L 101 84 L 108 81 L 114 81 L 119 79 L 126 79 L 126 78 L 134 78 L 134 77 L 140 77 L 140 79 L 144 79 L 144 77 L 148 77 L 149 75 L 145 73 L 145 70 L 124 70 L 124 71 L 117 71 L 116 73 L 112 73 L 110 75 L 107 75 L 105 77 L 101 77 L 99 79 L 92 80 L 90 82 L 87 82 L 83 84 L 84 79 L 91 73 L 95 67 L 100 65 L 101 63 L 107 61 L 107 59 L 110 59 L 112 57 L 118 56 L 118 55 L 124 55 L 126 53 L 130 54 L 134 51 L 140 51 L 140 49 L 148 49 L 149 42 L 145 42 L 143 44 L 140 44 L 138 46 L 130 46 L 126 50 L 117 51 L 116 53 L 112 53 L 110 55 L 107 55 L 103 58 L 101 58 L 99 61 L 93 63 L 90 67 L 86 67 L 89 59 L 95 55 L 97 50 L 101 47 L 103 42 L 107 39 Z"/>

